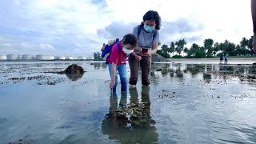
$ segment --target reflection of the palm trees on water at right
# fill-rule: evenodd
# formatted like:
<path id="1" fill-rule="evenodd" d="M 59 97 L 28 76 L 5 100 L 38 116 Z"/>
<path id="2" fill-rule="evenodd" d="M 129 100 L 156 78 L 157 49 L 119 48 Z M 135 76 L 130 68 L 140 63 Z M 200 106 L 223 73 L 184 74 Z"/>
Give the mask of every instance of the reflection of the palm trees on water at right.
<path id="1" fill-rule="evenodd" d="M 191 74 L 191 76 L 197 77 L 198 74 L 202 74 L 203 79 L 211 79 L 212 77 L 224 78 L 238 77 L 242 80 L 244 78 L 250 81 L 255 79 L 256 65 L 218 65 L 218 64 L 155 64 L 152 66 L 151 76 L 156 77 L 155 74 L 161 72 L 162 77 L 166 77 L 168 74 L 170 78 L 183 78 L 184 74 Z"/>

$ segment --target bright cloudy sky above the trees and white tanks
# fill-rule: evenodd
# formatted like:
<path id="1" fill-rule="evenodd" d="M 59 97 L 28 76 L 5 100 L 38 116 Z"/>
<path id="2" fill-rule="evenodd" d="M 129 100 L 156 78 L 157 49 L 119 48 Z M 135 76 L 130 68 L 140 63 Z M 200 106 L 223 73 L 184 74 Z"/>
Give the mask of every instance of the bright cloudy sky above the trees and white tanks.
<path id="1" fill-rule="evenodd" d="M 250 0 L 0 0 L 0 55 L 91 56 L 122 38 L 148 10 L 162 18 L 160 41 L 250 38 Z M 160 49 L 160 48 L 159 48 Z"/>

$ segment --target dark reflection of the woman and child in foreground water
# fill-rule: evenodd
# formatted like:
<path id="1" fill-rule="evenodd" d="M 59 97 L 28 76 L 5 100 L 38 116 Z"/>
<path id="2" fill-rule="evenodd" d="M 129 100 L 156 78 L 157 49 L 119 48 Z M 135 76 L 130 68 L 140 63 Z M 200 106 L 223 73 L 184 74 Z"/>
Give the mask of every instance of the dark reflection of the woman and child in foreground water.
<path id="1" fill-rule="evenodd" d="M 121 143 L 158 142 L 155 122 L 150 116 L 150 86 L 142 86 L 141 102 L 138 90 L 130 89 L 130 103 L 127 94 L 122 93 L 119 106 L 118 96 L 110 96 L 110 109 L 102 120 L 102 133 Z"/>

